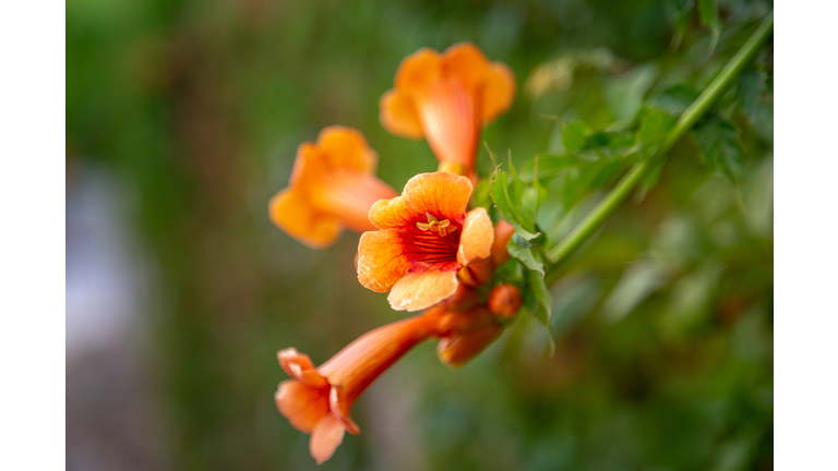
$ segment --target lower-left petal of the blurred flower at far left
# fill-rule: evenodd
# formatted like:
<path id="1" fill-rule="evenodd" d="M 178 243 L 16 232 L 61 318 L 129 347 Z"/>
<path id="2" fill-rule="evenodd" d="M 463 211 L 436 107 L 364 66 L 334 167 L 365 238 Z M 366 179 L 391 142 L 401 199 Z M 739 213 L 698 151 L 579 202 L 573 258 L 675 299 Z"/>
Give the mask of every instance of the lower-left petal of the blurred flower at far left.
<path id="1" fill-rule="evenodd" d="M 297 191 L 285 189 L 267 205 L 271 220 L 289 235 L 312 249 L 322 249 L 337 240 L 340 222 L 312 207 Z"/>

